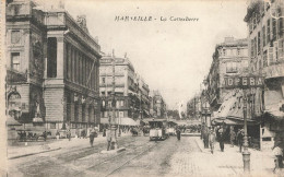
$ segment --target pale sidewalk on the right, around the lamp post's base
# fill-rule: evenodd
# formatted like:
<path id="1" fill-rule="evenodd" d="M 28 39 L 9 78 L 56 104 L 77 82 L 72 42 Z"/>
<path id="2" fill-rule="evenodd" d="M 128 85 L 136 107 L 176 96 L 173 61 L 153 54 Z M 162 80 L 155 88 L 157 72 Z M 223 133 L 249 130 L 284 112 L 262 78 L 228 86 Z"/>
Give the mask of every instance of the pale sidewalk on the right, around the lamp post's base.
<path id="1" fill-rule="evenodd" d="M 224 152 L 221 152 L 218 142 L 215 143 L 214 153 L 211 154 L 210 149 L 204 149 L 203 141 L 197 138 L 196 143 L 204 154 L 208 166 L 211 172 L 209 174 L 218 174 L 220 176 L 245 176 L 242 154 L 239 146 L 232 148 L 225 144 Z M 250 176 L 284 176 L 284 174 L 273 174 L 274 156 L 272 152 L 262 152 L 249 149 L 250 152 Z M 204 161 L 204 158 L 203 158 Z M 206 165 L 204 164 L 204 165 Z"/>

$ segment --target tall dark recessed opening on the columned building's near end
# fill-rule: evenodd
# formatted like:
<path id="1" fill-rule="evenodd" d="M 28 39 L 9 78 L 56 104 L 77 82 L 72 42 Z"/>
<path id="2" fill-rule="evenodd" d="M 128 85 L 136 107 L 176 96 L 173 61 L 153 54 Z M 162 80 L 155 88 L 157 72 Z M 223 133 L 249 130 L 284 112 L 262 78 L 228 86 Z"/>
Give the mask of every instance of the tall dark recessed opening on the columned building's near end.
<path id="1" fill-rule="evenodd" d="M 47 42 L 47 76 L 57 76 L 57 39 L 49 37 Z"/>

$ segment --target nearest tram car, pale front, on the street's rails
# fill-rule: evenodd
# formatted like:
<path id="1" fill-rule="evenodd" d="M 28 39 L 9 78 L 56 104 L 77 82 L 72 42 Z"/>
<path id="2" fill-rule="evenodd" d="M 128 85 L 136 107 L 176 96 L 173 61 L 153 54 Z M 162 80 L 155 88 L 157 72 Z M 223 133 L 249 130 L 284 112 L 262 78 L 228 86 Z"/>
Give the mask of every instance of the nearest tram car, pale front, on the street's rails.
<path id="1" fill-rule="evenodd" d="M 151 120 L 149 121 L 150 125 L 150 132 L 149 137 L 150 140 L 165 140 L 167 139 L 166 134 L 166 126 L 164 120 Z"/>

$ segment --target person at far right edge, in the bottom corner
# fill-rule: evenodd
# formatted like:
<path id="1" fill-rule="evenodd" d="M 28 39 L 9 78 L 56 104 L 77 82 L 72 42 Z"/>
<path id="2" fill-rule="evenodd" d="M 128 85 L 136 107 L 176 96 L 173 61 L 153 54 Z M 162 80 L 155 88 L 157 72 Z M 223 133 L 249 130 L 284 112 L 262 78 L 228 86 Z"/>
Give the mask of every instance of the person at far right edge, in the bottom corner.
<path id="1" fill-rule="evenodd" d="M 283 146 L 284 145 L 283 144 L 284 144 L 283 138 L 281 138 L 280 134 L 276 133 L 276 135 L 274 138 L 274 145 L 272 148 L 273 154 L 275 155 L 275 160 L 274 160 L 275 167 L 274 167 L 273 172 L 284 167 L 284 165 L 283 165 Z"/>

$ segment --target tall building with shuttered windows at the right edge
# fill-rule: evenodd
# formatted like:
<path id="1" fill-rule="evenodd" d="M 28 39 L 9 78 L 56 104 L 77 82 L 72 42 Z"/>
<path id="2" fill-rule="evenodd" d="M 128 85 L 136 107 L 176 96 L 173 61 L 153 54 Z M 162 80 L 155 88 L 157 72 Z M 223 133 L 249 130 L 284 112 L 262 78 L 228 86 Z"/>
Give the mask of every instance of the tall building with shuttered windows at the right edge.
<path id="1" fill-rule="evenodd" d="M 261 149 L 270 150 L 275 132 L 284 130 L 284 2 L 251 0 L 248 26 L 249 71 L 264 76 L 261 107 Z M 284 134 L 282 133 L 284 137 Z"/>

